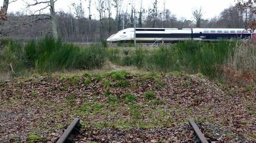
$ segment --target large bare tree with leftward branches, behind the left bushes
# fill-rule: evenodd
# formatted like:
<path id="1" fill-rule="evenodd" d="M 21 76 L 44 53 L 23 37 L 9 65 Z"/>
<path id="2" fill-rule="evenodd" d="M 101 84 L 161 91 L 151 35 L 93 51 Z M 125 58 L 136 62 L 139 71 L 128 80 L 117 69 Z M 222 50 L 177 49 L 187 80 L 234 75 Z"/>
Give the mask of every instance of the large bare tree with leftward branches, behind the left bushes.
<path id="1" fill-rule="evenodd" d="M 34 2 L 32 4 L 27 3 L 27 8 L 29 8 L 29 7 L 38 7 L 38 6 L 41 7 L 40 9 L 37 9 L 35 12 L 33 12 L 32 16 L 42 15 L 42 16 L 48 17 L 48 19 L 51 20 L 52 34 L 53 34 L 53 37 L 55 39 L 58 38 L 57 17 L 56 17 L 56 12 L 55 12 L 55 2 L 56 1 L 57 0 L 49 0 L 49 1 L 34 0 Z M 49 14 L 42 14 L 42 12 L 47 8 L 50 8 L 50 15 Z M 39 13 L 39 14 L 37 14 L 37 13 Z"/>

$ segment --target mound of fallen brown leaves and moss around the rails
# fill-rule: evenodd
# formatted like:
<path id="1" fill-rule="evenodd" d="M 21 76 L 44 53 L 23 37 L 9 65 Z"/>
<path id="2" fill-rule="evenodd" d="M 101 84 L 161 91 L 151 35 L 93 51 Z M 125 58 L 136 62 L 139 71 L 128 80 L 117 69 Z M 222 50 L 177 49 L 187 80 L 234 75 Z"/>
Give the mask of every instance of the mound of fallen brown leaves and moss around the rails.
<path id="1" fill-rule="evenodd" d="M 125 81 L 129 86 L 116 86 L 108 74 L 34 76 L 1 85 L 0 142 L 25 142 L 28 135 L 55 142 L 77 116 L 83 124 L 77 142 L 193 142 L 188 118 L 201 122 L 212 141 L 256 141 L 255 89 L 183 74 L 127 75 Z M 146 91 L 155 99 L 146 99 Z M 134 103 L 124 102 L 125 93 L 135 95 Z"/>

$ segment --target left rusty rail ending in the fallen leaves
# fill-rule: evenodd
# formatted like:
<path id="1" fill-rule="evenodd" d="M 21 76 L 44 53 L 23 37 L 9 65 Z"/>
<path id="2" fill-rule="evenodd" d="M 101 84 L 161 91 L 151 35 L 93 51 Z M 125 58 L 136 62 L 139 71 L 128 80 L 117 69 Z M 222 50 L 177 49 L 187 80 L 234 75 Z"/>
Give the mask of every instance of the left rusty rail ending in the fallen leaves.
<path id="1" fill-rule="evenodd" d="M 65 132 L 58 139 L 57 143 L 70 143 L 75 134 L 79 133 L 80 130 L 80 119 L 75 118 L 71 124 L 67 127 Z"/>

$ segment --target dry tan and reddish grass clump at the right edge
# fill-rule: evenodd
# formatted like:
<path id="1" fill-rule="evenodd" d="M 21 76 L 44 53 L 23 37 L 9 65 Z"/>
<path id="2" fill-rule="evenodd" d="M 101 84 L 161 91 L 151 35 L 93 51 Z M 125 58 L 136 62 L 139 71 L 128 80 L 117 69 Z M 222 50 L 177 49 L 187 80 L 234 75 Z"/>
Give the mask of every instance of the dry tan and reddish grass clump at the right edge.
<path id="1" fill-rule="evenodd" d="M 223 66 L 223 75 L 229 84 L 248 86 L 256 83 L 255 43 L 237 44 Z"/>

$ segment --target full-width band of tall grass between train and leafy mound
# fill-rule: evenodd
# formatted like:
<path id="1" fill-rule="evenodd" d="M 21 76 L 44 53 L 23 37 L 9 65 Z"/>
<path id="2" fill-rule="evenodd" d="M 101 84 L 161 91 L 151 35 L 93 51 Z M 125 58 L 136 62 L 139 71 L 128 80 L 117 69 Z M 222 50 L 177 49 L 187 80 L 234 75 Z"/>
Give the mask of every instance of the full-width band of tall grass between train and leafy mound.
<path id="1" fill-rule="evenodd" d="M 2 47 L 2 77 L 101 69 L 109 60 L 116 65 L 133 66 L 149 72 L 201 73 L 232 85 L 251 85 L 256 81 L 256 46 L 253 43 L 188 41 L 160 45 L 159 48 L 107 48 L 106 42 L 78 47 L 45 37 L 38 41 L 31 40 L 24 46 L 12 40 L 3 40 Z M 125 80 L 116 83 L 116 86 L 128 85 Z"/>

